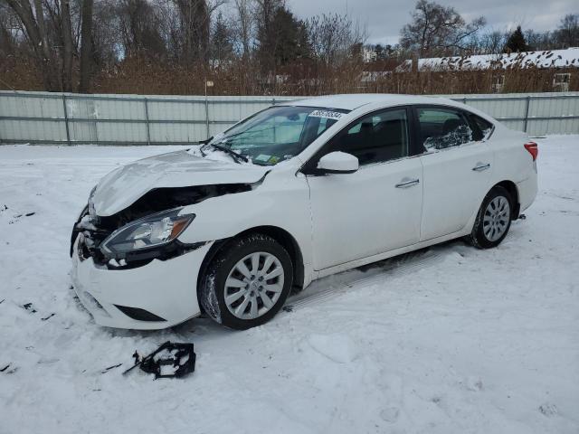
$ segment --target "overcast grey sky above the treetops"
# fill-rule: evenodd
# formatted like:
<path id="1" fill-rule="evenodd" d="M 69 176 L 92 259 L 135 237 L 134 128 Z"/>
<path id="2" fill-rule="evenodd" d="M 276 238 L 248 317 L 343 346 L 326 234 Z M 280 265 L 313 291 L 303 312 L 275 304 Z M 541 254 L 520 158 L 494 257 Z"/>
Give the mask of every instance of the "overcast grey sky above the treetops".
<path id="1" fill-rule="evenodd" d="M 557 27 L 565 14 L 579 14 L 577 0 L 438 0 L 453 6 L 467 21 L 484 16 L 490 29 L 506 31 L 521 24 L 536 32 Z M 403 24 L 410 21 L 413 0 L 287 0 L 289 8 L 308 18 L 316 14 L 347 14 L 366 24 L 368 42 L 396 43 Z"/>

